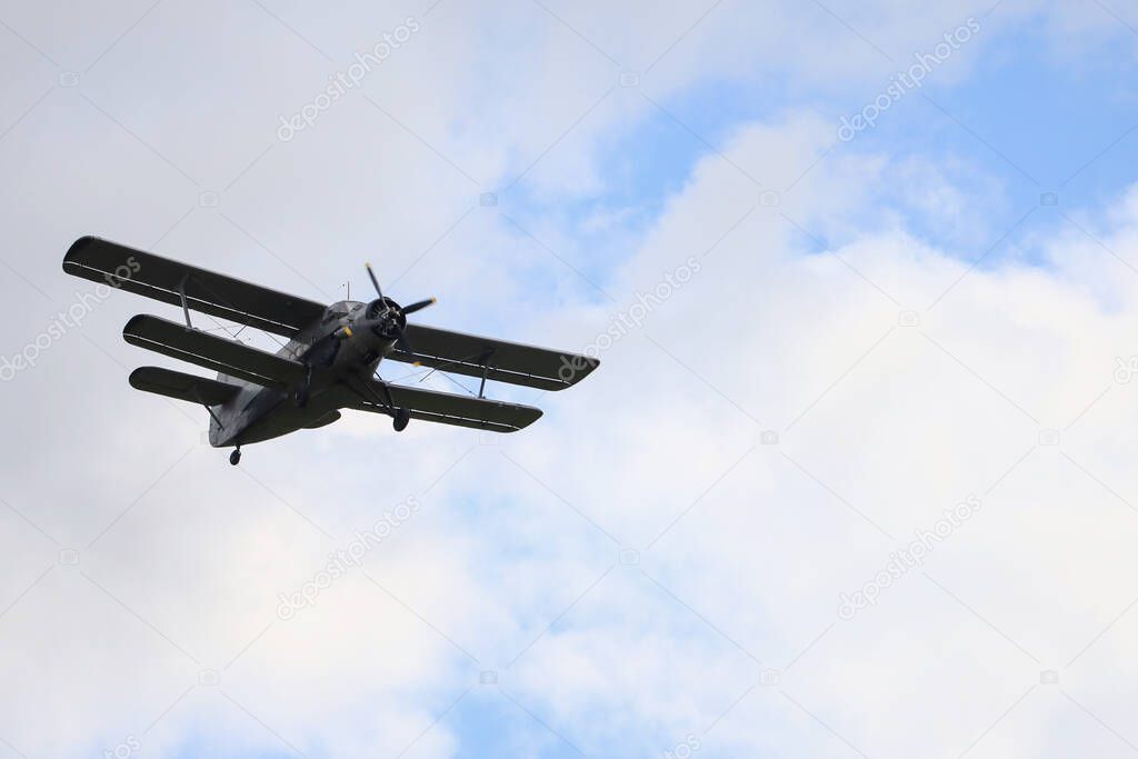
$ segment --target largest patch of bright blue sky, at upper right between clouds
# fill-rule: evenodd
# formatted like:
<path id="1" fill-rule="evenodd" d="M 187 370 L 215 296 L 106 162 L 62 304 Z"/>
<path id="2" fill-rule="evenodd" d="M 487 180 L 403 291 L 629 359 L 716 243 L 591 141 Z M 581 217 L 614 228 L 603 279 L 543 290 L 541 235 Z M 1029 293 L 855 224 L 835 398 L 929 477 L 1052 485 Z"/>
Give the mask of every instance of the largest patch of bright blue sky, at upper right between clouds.
<path id="1" fill-rule="evenodd" d="M 892 183 L 865 189 L 874 198 L 874 209 L 901 213 L 913 234 L 967 261 L 996 246 L 983 258 L 988 266 L 998 265 L 1012 255 L 1014 244 L 1022 244 L 1028 249 L 1015 255 L 1045 264 L 1032 246 L 1069 226 L 1059 211 L 1094 218 L 1097 208 L 1132 183 L 1128 166 L 1138 150 L 1132 131 L 1138 125 L 1138 97 L 1129 83 L 1138 66 L 1136 35 L 1111 19 L 1094 46 L 1072 51 L 1062 49 L 1041 20 L 999 20 L 995 16 L 982 31 L 982 41 L 958 53 L 966 58 L 963 75 L 934 72 L 921 90 L 910 91 L 887 112 L 875 129 L 850 143 L 835 139 L 834 150 L 888 156 L 894 166 L 926 160 L 949 172 L 954 185 L 970 197 L 953 230 L 930 226 L 925 213 Z M 927 50 L 935 42 L 930 40 Z M 580 248 L 579 265 L 591 278 L 604 281 L 613 273 L 613 264 L 628 254 L 624 234 L 650 229 L 669 198 L 690 180 L 693 167 L 740 130 L 809 109 L 832 118 L 836 134 L 842 116 L 872 101 L 893 72 L 912 63 L 912 57 L 897 56 L 882 61 L 880 76 L 865 76 L 840 89 L 803 85 L 792 68 L 775 68 L 761 76 L 744 71 L 695 79 L 655 100 L 645 80 L 643 91 L 617 90 L 613 97 L 633 102 L 652 98 L 666 112 L 640 102 L 642 109 L 634 121 L 619 125 L 613 139 L 597 141 L 594 160 L 603 167 L 600 191 L 551 204 L 534 197 L 522 181 L 503 201 L 508 199 L 511 213 L 520 218 L 552 221 L 571 230 L 569 244 Z M 1059 206 L 1045 205 L 1046 193 L 1056 193 Z M 1038 213 L 1017 225 L 1032 208 Z M 605 213 L 620 214 L 620 236 L 612 229 L 596 231 L 588 223 Z M 997 245 L 1013 228 L 1008 239 Z M 806 241 L 807 247 L 843 242 L 816 237 Z M 613 239 L 618 245 L 612 245 Z"/>

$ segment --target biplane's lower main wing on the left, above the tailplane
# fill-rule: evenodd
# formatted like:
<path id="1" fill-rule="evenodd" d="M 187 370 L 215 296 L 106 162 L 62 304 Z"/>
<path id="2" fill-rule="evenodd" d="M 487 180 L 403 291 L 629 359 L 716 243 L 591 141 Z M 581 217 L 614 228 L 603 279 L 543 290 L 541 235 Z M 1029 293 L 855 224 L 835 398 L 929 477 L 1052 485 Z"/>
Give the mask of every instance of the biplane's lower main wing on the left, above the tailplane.
<path id="1" fill-rule="evenodd" d="M 289 387 L 307 371 L 298 361 L 146 314 L 126 322 L 123 339 L 140 348 L 264 387 Z"/>

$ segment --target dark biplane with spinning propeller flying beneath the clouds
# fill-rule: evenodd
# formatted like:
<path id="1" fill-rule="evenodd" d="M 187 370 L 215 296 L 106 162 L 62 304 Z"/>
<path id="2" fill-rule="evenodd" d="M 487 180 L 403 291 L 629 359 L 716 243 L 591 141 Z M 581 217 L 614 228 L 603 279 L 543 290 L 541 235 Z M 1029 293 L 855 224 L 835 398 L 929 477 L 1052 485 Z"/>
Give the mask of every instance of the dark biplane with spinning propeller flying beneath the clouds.
<path id="1" fill-rule="evenodd" d="M 76 240 L 63 266 L 68 274 L 181 306 L 184 324 L 140 314 L 123 328 L 123 338 L 216 371 L 217 378 L 142 366 L 131 373 L 130 383 L 205 406 L 209 444 L 233 447 L 229 461 L 234 467 L 242 446 L 327 427 L 345 409 L 391 416 L 396 431 L 415 419 L 516 432 L 537 421 L 542 411 L 487 398 L 487 380 L 563 390 L 600 363 L 579 354 L 410 324 L 407 316 L 435 299 L 401 306 L 384 295 L 371 264 L 366 271 L 378 297 L 331 305 L 96 237 Z M 196 328 L 190 311 L 279 335 L 288 343 L 277 353 L 261 350 Z M 384 360 L 476 377 L 481 386 L 475 397 L 395 385 L 376 374 Z"/>

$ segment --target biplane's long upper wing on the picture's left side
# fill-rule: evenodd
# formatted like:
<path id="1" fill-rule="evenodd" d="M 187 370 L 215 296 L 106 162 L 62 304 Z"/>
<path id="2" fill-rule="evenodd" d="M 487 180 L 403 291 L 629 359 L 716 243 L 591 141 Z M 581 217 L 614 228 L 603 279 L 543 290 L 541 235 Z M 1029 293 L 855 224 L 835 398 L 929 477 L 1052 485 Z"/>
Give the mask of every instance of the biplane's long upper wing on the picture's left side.
<path id="1" fill-rule="evenodd" d="M 175 306 L 184 288 L 190 308 L 292 337 L 324 306 L 292 295 L 134 250 L 94 237 L 80 238 L 64 257 L 64 271 Z"/>

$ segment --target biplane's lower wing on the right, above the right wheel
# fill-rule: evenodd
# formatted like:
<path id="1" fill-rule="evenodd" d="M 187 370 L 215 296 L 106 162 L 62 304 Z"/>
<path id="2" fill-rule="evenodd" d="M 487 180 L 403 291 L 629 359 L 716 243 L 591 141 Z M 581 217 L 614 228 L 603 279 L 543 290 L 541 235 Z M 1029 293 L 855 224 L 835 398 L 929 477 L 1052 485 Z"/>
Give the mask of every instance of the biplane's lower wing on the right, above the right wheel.
<path id="1" fill-rule="evenodd" d="M 343 409 L 387 413 L 387 410 L 374 397 L 384 397 L 384 382 L 371 380 L 371 391 L 360 394 L 347 385 L 338 385 L 331 393 L 337 393 L 337 405 Z M 428 422 L 442 422 L 459 427 L 490 430 L 494 432 L 517 432 L 529 427 L 542 416 L 541 409 L 521 406 L 501 401 L 475 398 L 465 395 L 436 393 L 402 385 L 387 385 L 391 394 L 391 403 L 397 409 L 411 411 L 412 419 Z"/>

